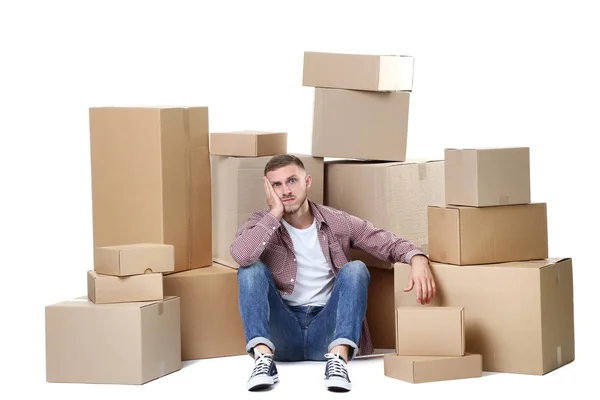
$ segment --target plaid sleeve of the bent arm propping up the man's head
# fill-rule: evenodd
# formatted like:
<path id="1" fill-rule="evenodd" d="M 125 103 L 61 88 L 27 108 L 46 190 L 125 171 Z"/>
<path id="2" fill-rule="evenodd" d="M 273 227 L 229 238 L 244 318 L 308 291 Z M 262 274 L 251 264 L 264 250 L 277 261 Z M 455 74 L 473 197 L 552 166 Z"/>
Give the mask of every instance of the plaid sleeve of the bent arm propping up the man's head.
<path id="1" fill-rule="evenodd" d="M 229 248 L 231 257 L 240 267 L 252 265 L 260 259 L 265 248 L 276 238 L 281 222 L 271 213 L 257 211 L 238 229 Z"/>

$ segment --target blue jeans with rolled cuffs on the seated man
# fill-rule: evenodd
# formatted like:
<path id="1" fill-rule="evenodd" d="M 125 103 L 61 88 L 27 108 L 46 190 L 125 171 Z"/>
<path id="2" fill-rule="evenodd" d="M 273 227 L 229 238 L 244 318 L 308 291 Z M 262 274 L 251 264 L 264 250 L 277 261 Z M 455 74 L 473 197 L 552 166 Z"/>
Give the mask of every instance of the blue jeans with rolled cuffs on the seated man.
<path id="1" fill-rule="evenodd" d="M 290 307 L 262 262 L 240 267 L 239 307 L 246 334 L 246 351 L 269 347 L 275 360 L 323 361 L 337 345 L 348 345 L 348 360 L 357 354 L 367 311 L 370 274 L 362 261 L 351 261 L 339 271 L 331 297 L 322 307 Z"/>

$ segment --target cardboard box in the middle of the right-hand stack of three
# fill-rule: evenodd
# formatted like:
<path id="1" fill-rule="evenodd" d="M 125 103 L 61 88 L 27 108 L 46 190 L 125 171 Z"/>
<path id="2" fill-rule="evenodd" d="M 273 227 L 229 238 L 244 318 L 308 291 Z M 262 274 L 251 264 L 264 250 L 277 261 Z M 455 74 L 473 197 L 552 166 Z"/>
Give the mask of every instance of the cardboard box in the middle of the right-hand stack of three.
<path id="1" fill-rule="evenodd" d="M 473 265 L 548 257 L 545 203 L 430 206 L 428 220 L 432 261 Z"/>

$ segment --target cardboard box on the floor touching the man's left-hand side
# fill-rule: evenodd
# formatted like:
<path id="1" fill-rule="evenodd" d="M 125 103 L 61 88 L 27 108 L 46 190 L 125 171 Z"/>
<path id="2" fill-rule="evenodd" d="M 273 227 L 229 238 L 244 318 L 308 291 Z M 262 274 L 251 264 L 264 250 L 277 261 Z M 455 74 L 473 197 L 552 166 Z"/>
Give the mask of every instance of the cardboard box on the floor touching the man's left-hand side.
<path id="1" fill-rule="evenodd" d="M 181 298 L 182 360 L 247 354 L 237 270 L 213 264 L 163 281 L 165 294 Z"/>

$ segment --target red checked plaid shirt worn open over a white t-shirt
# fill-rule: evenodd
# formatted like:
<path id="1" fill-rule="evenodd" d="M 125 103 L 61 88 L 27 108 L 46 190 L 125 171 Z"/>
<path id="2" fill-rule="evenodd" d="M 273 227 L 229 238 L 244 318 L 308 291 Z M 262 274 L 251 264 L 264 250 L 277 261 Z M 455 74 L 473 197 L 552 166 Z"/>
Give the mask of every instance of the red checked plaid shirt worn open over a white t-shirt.
<path id="1" fill-rule="evenodd" d="M 424 255 L 408 240 L 378 229 L 369 221 L 310 200 L 309 205 L 316 220 L 321 249 L 336 277 L 340 268 L 351 261 L 350 248 L 364 250 L 391 263 L 409 264 L 412 256 Z M 293 292 L 297 264 L 292 239 L 281 222 L 269 213 L 268 207 L 255 211 L 238 229 L 230 252 L 240 267 L 262 261 L 271 270 L 280 293 Z M 373 352 L 366 318 L 358 346 L 361 355 Z"/>

